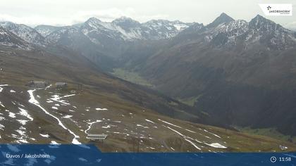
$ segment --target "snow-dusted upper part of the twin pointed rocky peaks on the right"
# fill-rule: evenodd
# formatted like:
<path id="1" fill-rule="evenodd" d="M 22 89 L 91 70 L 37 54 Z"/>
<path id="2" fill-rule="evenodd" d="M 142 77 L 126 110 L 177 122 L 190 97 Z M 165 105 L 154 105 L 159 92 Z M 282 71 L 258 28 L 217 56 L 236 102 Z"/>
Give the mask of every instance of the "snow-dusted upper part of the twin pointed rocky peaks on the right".
<path id="1" fill-rule="evenodd" d="M 182 37 L 184 34 L 190 34 L 193 37 L 192 40 L 200 40 L 214 44 L 214 46 L 233 47 L 237 44 L 244 46 L 261 44 L 267 49 L 288 49 L 296 44 L 295 32 L 261 15 L 257 15 L 247 23 L 245 20 L 234 20 L 222 13 L 213 23 L 206 26 L 192 25 L 179 36 Z"/>

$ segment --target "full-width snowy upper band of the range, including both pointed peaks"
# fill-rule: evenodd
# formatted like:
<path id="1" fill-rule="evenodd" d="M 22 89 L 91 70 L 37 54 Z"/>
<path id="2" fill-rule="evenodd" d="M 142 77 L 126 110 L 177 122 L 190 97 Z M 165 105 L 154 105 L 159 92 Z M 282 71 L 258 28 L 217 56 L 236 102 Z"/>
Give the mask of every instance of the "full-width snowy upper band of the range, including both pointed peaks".
<path id="1" fill-rule="evenodd" d="M 58 42 L 66 46 L 77 46 L 78 44 L 73 44 L 73 41 L 79 41 L 80 37 L 89 39 L 92 44 L 101 48 L 107 48 L 126 41 L 168 39 L 178 34 L 195 34 L 191 35 L 194 40 L 199 39 L 197 36 L 202 36 L 202 41 L 211 42 L 216 46 L 233 46 L 240 40 L 245 46 L 257 41 L 265 42 L 266 46 L 273 49 L 285 49 L 295 44 L 295 32 L 261 15 L 247 23 L 245 20 L 234 20 L 222 13 L 206 26 L 199 23 L 182 23 L 178 20 L 150 20 L 139 23 L 126 17 L 118 18 L 111 23 L 90 18 L 78 25 L 39 25 L 35 29 L 11 22 L 1 22 L 0 25 L 28 43 L 39 46 Z M 187 38 L 190 38 L 190 35 Z"/>

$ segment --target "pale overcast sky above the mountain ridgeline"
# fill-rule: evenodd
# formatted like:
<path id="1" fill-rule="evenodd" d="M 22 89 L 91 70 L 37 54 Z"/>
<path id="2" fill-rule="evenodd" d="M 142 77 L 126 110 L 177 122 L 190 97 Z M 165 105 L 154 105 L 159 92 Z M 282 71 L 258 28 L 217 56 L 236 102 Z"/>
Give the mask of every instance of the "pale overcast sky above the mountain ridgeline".
<path id="1" fill-rule="evenodd" d="M 247 21 L 257 14 L 264 15 L 258 4 L 292 4 L 296 8 L 296 0 L 0 0 L 0 3 L 0 20 L 30 26 L 73 25 L 90 17 L 111 21 L 121 16 L 141 23 L 168 19 L 206 25 L 222 12 Z M 266 18 L 296 26 L 293 14 Z"/>

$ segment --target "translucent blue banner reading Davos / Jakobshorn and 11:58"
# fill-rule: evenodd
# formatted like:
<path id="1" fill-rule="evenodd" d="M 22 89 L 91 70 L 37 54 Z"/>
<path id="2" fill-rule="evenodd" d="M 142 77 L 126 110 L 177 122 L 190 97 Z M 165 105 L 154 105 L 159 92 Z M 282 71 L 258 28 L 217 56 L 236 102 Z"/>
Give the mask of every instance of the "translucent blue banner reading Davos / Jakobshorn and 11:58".
<path id="1" fill-rule="evenodd" d="M 296 165 L 296 153 L 101 153 L 94 145 L 0 146 L 0 165 Z"/>

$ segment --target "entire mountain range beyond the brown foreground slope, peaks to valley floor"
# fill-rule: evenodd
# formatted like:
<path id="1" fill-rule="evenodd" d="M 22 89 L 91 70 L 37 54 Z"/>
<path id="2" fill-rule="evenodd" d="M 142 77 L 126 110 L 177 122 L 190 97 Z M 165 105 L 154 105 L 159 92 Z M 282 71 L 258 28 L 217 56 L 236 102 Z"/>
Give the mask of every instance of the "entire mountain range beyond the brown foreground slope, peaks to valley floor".
<path id="1" fill-rule="evenodd" d="M 66 27 L 0 23 L 0 44 L 63 46 L 105 72 L 136 72 L 154 89 L 211 116 L 213 125 L 275 127 L 296 135 L 296 32 L 257 15 L 209 25 L 90 18 Z"/>

